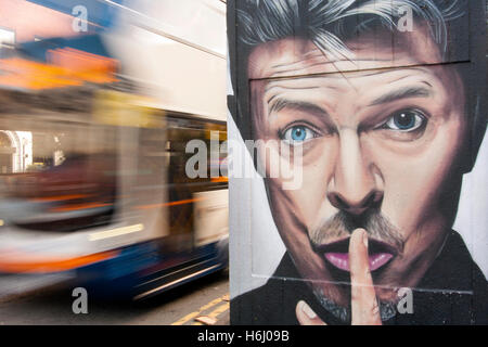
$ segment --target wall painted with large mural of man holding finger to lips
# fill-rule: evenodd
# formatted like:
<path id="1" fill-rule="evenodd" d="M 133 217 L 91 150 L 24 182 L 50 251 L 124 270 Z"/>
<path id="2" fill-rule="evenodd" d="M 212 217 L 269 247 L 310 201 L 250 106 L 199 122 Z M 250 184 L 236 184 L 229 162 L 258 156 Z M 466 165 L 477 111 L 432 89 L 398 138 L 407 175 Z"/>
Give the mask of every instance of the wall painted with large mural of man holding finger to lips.
<path id="1" fill-rule="evenodd" d="M 228 2 L 231 323 L 485 322 L 485 9 Z"/>

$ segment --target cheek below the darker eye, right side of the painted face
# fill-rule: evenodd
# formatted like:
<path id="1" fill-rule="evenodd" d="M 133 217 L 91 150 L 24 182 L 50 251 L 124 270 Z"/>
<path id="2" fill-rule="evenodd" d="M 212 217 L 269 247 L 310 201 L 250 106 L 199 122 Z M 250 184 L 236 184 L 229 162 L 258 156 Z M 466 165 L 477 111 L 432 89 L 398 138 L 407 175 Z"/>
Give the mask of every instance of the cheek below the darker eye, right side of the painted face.
<path id="1" fill-rule="evenodd" d="M 382 213 L 401 233 L 422 229 L 426 217 L 439 213 L 440 190 L 452 175 L 461 133 L 458 121 L 446 121 L 420 141 L 398 146 L 381 141 L 370 143 L 384 179 Z"/>

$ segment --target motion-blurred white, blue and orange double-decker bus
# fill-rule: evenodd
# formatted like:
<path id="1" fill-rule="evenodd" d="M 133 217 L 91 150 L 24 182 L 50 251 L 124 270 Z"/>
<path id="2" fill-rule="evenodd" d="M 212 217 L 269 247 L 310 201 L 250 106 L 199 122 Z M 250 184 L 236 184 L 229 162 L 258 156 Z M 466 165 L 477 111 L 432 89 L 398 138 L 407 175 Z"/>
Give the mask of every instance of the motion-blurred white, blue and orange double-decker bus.
<path id="1" fill-rule="evenodd" d="M 227 268 L 224 3 L 106 5 L 110 30 L 1 51 L 0 272 L 141 299 Z"/>

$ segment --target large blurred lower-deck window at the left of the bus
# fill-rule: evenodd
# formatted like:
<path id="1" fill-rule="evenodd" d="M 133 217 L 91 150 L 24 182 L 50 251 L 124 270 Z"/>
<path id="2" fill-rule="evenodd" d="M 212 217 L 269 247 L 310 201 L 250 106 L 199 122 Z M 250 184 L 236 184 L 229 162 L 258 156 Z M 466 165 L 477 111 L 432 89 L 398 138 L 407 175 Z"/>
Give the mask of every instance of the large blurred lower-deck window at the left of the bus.
<path id="1" fill-rule="evenodd" d="M 0 213 L 7 222 L 41 231 L 111 222 L 115 130 L 68 117 L 49 112 L 0 117 Z"/>

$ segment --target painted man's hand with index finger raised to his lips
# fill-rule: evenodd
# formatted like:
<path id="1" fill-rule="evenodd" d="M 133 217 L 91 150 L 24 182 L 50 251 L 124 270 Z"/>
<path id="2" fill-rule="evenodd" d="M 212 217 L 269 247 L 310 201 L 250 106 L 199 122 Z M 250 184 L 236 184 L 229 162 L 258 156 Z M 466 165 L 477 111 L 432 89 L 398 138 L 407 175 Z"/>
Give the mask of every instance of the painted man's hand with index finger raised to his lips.
<path id="1" fill-rule="evenodd" d="M 349 267 L 352 325 L 381 325 L 368 258 L 368 234 L 364 229 L 356 229 L 350 236 Z M 305 301 L 298 301 L 295 311 L 301 325 L 326 325 Z"/>

